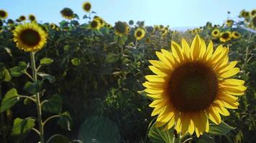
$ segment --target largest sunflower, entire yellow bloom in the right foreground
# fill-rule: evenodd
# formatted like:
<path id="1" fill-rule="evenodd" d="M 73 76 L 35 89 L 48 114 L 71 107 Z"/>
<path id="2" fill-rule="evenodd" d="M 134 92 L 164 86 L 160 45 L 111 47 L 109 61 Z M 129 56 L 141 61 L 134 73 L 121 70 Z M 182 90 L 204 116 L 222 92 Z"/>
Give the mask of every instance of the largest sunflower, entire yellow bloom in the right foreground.
<path id="1" fill-rule="evenodd" d="M 174 41 L 171 51 L 161 49 L 156 52 L 158 60 L 150 60 L 151 71 L 156 75 L 147 75 L 148 97 L 154 101 L 152 116 L 158 115 L 155 127 L 163 130 L 174 126 L 177 132 L 193 134 L 199 137 L 209 132 L 209 119 L 215 124 L 221 123 L 221 116 L 228 116 L 226 108 L 238 107 L 237 97 L 244 94 L 244 81 L 232 79 L 239 72 L 234 67 L 237 61 L 229 62 L 229 48 L 219 45 L 213 49 L 210 41 L 206 43 L 198 35 L 191 46 L 182 39 L 182 46 Z"/>

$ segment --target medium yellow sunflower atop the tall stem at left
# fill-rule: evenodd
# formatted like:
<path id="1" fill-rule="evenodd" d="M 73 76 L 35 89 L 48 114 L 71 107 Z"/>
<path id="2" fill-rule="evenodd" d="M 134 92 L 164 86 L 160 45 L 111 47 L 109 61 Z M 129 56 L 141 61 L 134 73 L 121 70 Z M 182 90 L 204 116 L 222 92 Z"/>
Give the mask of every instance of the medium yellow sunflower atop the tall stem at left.
<path id="1" fill-rule="evenodd" d="M 24 51 L 40 50 L 47 41 L 47 34 L 35 23 L 20 24 L 16 26 L 13 33 L 17 47 Z"/>

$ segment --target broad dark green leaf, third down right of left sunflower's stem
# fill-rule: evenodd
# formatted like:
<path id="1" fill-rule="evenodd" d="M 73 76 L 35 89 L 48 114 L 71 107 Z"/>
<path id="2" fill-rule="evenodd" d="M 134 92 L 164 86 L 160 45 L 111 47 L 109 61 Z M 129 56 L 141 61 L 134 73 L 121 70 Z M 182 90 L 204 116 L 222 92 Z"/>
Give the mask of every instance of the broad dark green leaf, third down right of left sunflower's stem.
<path id="1" fill-rule="evenodd" d="M 42 110 L 45 112 L 60 114 L 63 105 L 63 99 L 60 95 L 55 94 L 49 100 L 46 100 L 44 104 L 42 104 Z"/>

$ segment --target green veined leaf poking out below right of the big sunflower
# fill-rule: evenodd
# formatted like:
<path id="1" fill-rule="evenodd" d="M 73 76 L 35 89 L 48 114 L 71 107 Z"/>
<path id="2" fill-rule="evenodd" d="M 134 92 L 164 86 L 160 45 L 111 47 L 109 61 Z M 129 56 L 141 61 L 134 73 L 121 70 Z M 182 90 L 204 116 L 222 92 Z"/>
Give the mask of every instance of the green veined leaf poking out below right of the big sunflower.
<path id="1" fill-rule="evenodd" d="M 210 124 L 209 134 L 214 135 L 225 135 L 232 129 L 235 129 L 234 127 L 229 126 L 228 124 L 221 122 L 221 124 Z"/>

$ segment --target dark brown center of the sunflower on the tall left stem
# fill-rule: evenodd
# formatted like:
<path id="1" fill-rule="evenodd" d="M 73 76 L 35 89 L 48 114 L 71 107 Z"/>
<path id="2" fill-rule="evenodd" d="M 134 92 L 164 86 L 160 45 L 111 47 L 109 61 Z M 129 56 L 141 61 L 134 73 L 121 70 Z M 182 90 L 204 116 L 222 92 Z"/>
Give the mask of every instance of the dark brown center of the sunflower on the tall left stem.
<path id="1" fill-rule="evenodd" d="M 37 44 L 39 44 L 41 37 L 37 31 L 27 29 L 22 31 L 19 39 L 21 39 L 22 43 L 26 44 L 27 46 L 36 46 Z"/>

